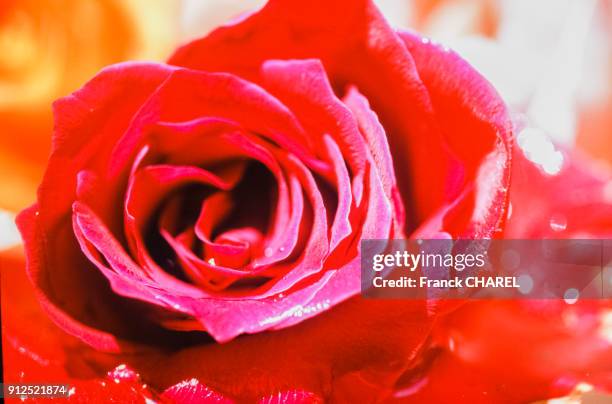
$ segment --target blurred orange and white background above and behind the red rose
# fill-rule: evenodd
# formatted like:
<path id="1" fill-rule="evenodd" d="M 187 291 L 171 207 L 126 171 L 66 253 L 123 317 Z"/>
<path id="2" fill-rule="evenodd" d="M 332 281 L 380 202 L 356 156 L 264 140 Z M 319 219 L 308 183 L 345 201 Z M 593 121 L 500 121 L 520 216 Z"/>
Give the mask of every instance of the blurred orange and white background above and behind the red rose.
<path id="1" fill-rule="evenodd" d="M 0 0 L 0 248 L 19 242 L 14 215 L 35 199 L 54 99 L 264 2 Z M 530 127 L 612 165 L 612 0 L 376 2 L 395 27 L 457 50 Z"/>

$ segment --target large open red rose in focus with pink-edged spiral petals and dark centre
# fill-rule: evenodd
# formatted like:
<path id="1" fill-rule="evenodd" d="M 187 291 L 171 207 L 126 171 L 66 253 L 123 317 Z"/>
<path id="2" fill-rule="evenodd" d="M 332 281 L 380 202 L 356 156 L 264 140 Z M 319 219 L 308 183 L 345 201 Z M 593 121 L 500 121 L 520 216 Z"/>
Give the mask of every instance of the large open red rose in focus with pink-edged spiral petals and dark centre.
<path id="1" fill-rule="evenodd" d="M 358 293 L 361 239 L 488 237 L 504 212 L 502 102 L 367 2 L 273 1 L 168 65 L 103 70 L 54 114 L 19 217 L 28 273 L 102 350 L 299 323 Z"/>

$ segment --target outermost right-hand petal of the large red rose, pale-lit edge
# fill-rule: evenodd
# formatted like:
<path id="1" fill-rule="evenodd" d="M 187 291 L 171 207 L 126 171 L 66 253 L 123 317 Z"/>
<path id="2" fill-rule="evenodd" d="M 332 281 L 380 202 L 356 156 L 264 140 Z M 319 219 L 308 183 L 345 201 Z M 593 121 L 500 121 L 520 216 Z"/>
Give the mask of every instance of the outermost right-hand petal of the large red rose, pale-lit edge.
<path id="1" fill-rule="evenodd" d="M 491 84 L 454 52 L 412 33 L 400 37 L 431 97 L 440 141 L 456 160 L 450 161 L 448 172 L 463 176 L 449 178 L 440 188 L 446 203 L 473 187 L 461 202 L 463 212 L 446 220 L 446 231 L 455 238 L 491 237 L 505 219 L 510 184 L 513 128 L 506 106 Z"/>

